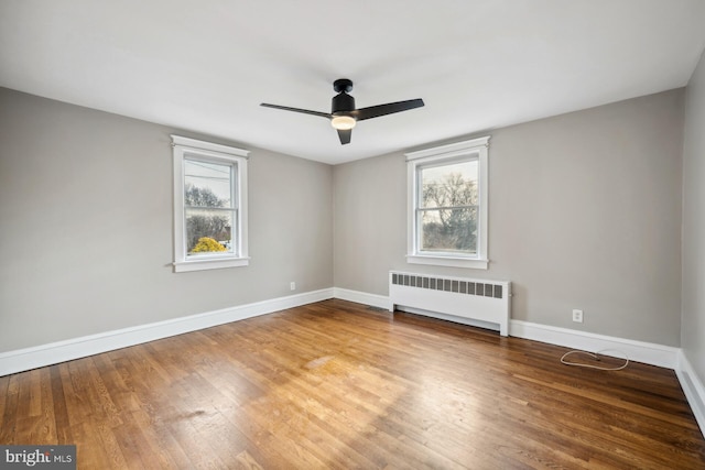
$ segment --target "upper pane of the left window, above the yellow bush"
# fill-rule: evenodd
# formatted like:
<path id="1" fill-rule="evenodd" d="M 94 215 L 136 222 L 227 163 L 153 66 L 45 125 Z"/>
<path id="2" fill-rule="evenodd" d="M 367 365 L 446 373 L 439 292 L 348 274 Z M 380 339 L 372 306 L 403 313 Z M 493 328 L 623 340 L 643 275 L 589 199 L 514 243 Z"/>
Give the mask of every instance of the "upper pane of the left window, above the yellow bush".
<path id="1" fill-rule="evenodd" d="M 231 166 L 197 160 L 184 161 L 184 204 L 200 207 L 234 207 Z"/>

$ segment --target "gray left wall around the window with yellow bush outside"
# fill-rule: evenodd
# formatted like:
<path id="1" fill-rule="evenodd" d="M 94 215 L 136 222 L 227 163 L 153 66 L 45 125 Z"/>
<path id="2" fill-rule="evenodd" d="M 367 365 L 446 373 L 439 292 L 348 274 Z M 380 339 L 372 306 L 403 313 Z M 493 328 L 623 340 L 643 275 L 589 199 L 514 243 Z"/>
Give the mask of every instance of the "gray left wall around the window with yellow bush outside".
<path id="1" fill-rule="evenodd" d="M 333 170 L 251 149 L 247 267 L 172 271 L 174 129 L 0 88 L 0 352 L 333 286 Z"/>

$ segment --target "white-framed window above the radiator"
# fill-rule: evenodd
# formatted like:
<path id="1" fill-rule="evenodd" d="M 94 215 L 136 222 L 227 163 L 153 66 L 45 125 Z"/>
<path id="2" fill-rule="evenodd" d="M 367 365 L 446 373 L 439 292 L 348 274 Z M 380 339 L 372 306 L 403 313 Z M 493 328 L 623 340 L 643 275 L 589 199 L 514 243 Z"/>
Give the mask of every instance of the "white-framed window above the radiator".
<path id="1" fill-rule="evenodd" d="M 487 269 L 489 136 L 406 154 L 409 263 Z"/>

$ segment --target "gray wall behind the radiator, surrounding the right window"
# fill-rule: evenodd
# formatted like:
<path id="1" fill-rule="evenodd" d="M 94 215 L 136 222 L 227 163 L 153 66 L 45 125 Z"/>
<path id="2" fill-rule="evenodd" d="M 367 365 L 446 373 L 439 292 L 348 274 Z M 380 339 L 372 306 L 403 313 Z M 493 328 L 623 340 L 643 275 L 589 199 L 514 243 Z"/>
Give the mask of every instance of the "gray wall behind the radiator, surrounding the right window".
<path id="1" fill-rule="evenodd" d="M 488 271 L 406 264 L 402 153 L 338 165 L 335 285 L 388 295 L 390 269 L 507 280 L 514 319 L 679 346 L 683 114 L 679 89 L 484 133 Z"/>

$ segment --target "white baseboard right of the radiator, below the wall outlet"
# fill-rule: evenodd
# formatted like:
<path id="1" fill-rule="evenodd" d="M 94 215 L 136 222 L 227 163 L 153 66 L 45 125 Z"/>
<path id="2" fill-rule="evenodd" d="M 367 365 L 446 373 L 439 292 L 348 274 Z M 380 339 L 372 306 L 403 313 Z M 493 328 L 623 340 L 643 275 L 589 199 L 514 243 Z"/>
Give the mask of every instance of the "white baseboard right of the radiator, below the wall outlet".
<path id="1" fill-rule="evenodd" d="M 604 352 L 605 356 L 614 356 L 616 358 L 623 357 L 619 353 L 622 352 L 627 354 L 629 360 L 658 365 L 660 368 L 675 369 L 679 363 L 680 348 L 522 320 L 510 321 L 509 336 L 563 346 L 581 351 L 597 352 L 606 350 Z"/>

